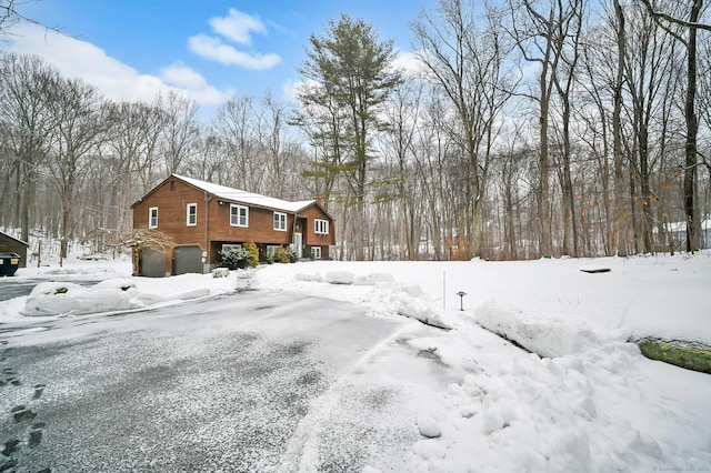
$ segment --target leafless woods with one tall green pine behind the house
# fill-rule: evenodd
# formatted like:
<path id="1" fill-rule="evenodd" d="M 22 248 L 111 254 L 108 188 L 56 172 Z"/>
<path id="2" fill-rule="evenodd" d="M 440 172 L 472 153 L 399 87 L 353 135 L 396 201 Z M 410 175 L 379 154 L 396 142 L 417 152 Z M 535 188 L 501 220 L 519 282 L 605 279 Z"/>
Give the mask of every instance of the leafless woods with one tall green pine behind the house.
<path id="1" fill-rule="evenodd" d="M 336 258 L 525 259 L 711 244 L 711 32 L 702 0 L 440 0 L 415 67 L 343 16 L 306 44 L 298 102 L 108 100 L 0 56 L 0 225 L 120 233 L 171 172 L 323 198 Z"/>

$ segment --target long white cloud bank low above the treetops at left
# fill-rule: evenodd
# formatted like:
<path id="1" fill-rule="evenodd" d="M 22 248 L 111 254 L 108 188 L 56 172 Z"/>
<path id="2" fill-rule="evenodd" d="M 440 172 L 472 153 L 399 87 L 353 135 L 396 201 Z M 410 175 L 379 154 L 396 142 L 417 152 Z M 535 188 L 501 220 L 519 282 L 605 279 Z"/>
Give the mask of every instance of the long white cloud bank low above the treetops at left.
<path id="1" fill-rule="evenodd" d="M 184 66 L 164 68 L 160 77 L 143 74 L 90 42 L 39 26 L 18 26 L 12 33 L 9 50 L 37 54 L 62 77 L 79 78 L 97 87 L 109 99 L 150 102 L 161 91 L 177 90 L 201 105 L 214 105 L 232 94 L 232 90 L 220 91 L 210 85 L 202 76 Z"/>

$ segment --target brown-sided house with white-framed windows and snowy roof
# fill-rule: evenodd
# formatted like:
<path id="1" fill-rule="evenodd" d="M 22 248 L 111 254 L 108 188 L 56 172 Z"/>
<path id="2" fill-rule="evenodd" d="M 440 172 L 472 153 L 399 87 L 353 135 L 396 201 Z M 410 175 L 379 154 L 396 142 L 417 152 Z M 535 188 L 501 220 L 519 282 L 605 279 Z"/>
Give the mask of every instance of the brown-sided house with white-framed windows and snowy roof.
<path id="1" fill-rule="evenodd" d="M 133 229 L 172 239 L 166 252 L 141 251 L 141 275 L 209 272 L 229 245 L 256 243 L 260 260 L 280 246 L 298 258 L 327 259 L 336 243 L 333 218 L 320 200 L 289 202 L 172 174 L 131 205 Z"/>

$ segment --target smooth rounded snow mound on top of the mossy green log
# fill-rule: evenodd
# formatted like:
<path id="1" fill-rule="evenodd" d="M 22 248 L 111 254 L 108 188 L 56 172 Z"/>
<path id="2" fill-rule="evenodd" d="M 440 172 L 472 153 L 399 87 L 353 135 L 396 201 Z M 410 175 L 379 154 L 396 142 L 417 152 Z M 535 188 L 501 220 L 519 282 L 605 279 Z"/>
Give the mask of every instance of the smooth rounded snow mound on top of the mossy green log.
<path id="1" fill-rule="evenodd" d="M 620 328 L 640 339 L 711 345 L 711 281 L 707 289 L 662 290 L 634 299 L 624 311 Z"/>

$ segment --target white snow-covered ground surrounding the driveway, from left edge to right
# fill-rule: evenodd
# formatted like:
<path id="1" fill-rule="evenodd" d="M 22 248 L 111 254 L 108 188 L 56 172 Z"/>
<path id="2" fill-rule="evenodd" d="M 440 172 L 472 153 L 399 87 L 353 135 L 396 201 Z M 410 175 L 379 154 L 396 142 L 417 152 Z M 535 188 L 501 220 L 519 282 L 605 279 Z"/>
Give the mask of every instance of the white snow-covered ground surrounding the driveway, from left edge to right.
<path id="1" fill-rule="evenodd" d="M 602 269 L 610 271 L 581 271 Z M 70 259 L 63 269 L 28 268 L 17 275 L 33 276 L 104 281 L 90 288 L 41 284 L 30 296 L 0 302 L 0 322 L 178 303 L 249 283 L 430 324 L 407 325 L 314 403 L 289 446 L 289 470 L 312 471 L 319 459 L 347 449 L 348 439 L 336 435 L 347 427 L 377 435 L 385 424 L 414 433 L 414 440 L 403 447 L 373 439 L 363 471 L 711 469 L 711 376 L 647 360 L 628 343 L 630 336 L 654 335 L 711 344 L 710 252 L 529 262 L 324 261 L 169 279 L 130 278 L 127 261 Z M 67 293 L 56 294 L 58 286 Z M 349 393 L 358 391 L 397 397 L 398 412 L 352 405 Z"/>

